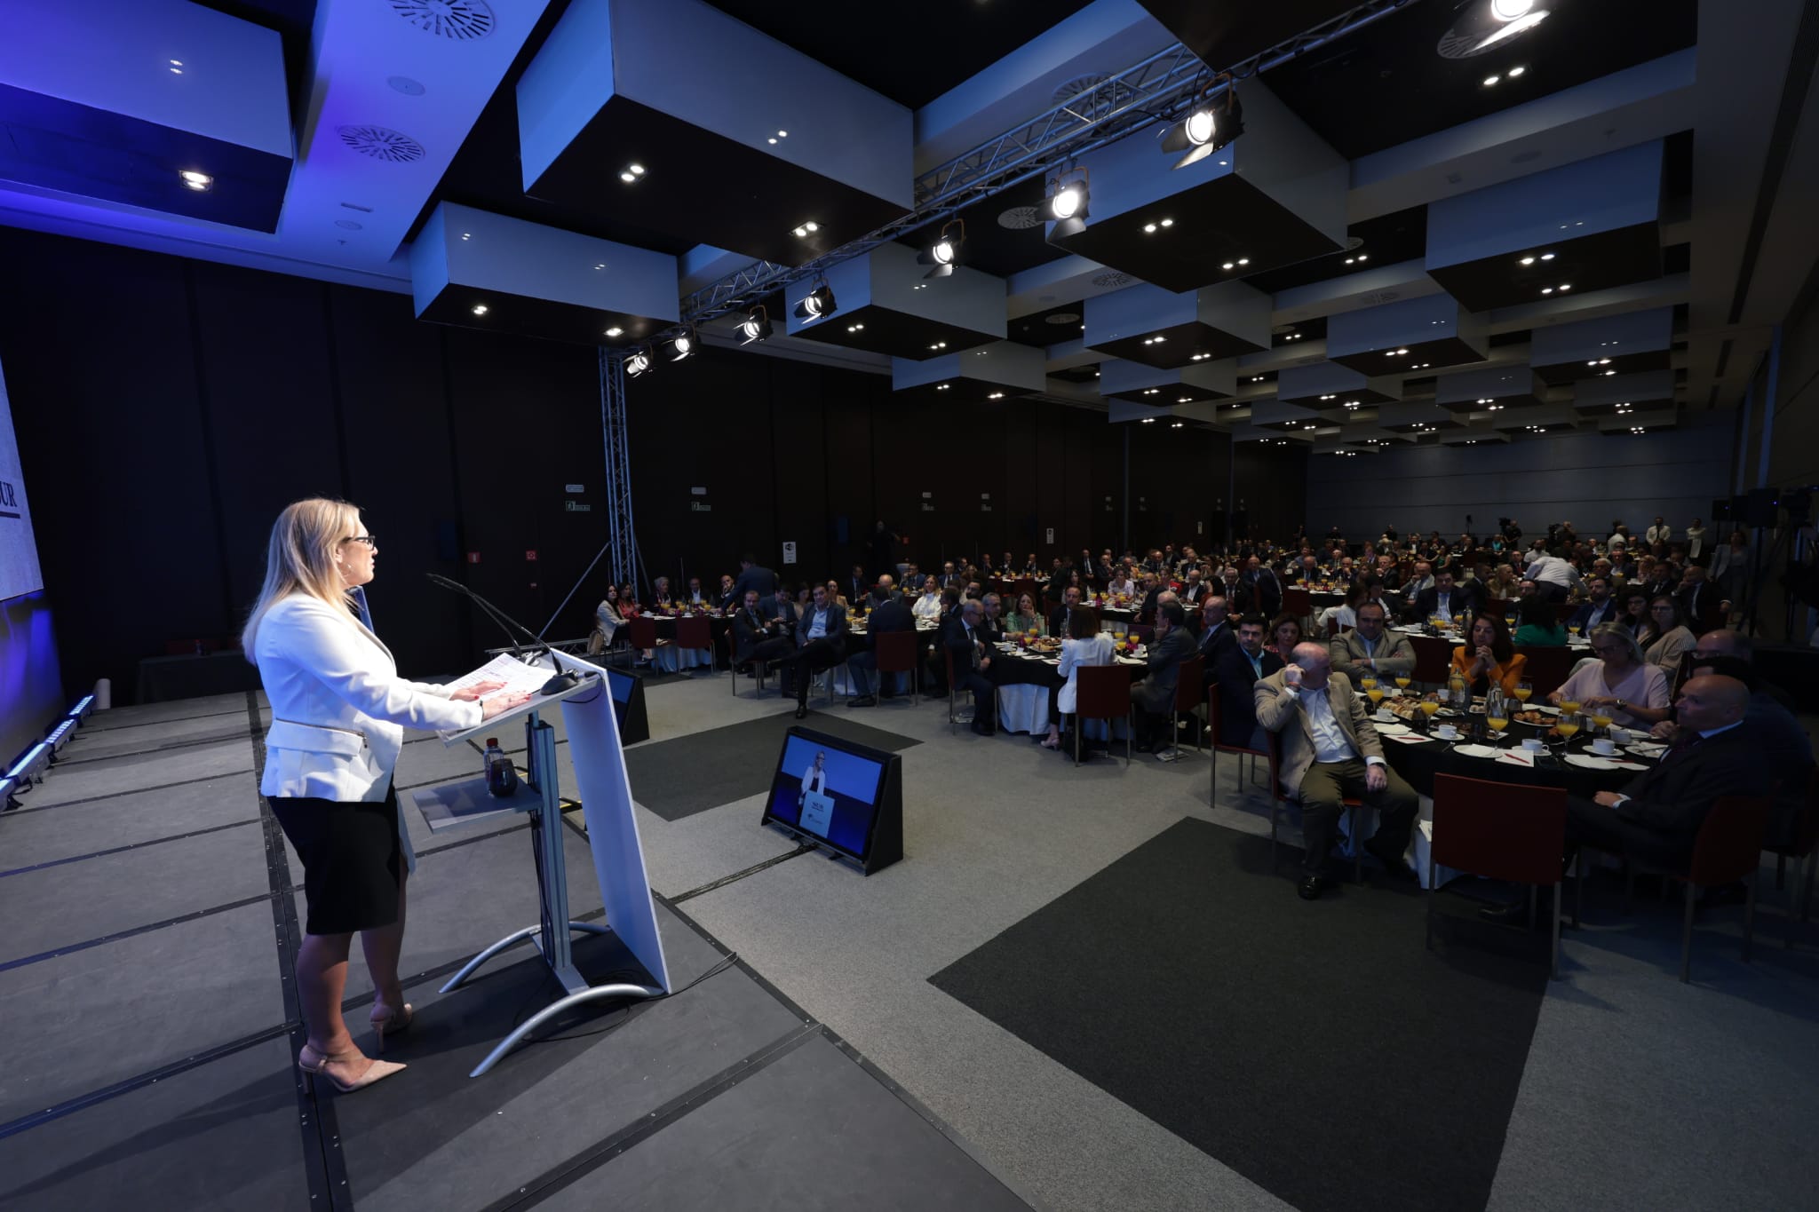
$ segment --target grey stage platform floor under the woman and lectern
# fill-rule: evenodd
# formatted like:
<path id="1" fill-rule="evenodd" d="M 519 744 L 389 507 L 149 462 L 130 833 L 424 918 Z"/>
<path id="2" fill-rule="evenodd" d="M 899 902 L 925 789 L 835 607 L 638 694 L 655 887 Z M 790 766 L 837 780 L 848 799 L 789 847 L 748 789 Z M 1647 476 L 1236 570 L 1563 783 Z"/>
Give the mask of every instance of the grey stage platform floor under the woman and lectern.
<path id="1" fill-rule="evenodd" d="M 262 810 L 258 694 L 96 714 L 0 816 L 0 1207 L 5 1208 L 1024 1208 L 853 1047 L 658 903 L 675 994 L 555 1023 L 467 1072 L 555 994 L 529 949 L 442 996 L 467 956 L 535 921 L 522 821 L 418 849 L 406 938 L 409 1070 L 307 1094 L 289 978 L 300 870 Z M 417 740 L 400 785 L 471 778 Z M 571 905 L 600 899 L 568 814 Z M 589 979 L 635 967 L 578 938 Z M 515 959 L 508 963 L 506 959 Z M 355 949 L 349 1027 L 371 1048 Z"/>

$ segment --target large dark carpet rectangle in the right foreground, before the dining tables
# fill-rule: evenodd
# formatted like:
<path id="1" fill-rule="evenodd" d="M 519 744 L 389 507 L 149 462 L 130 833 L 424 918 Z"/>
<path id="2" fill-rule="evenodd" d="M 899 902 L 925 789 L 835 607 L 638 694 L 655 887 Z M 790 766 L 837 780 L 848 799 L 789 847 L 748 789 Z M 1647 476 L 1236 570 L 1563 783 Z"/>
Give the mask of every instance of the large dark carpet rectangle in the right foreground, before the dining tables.
<path id="1" fill-rule="evenodd" d="M 1546 969 L 1268 854 L 1182 821 L 931 981 L 1297 1208 L 1484 1207 Z"/>

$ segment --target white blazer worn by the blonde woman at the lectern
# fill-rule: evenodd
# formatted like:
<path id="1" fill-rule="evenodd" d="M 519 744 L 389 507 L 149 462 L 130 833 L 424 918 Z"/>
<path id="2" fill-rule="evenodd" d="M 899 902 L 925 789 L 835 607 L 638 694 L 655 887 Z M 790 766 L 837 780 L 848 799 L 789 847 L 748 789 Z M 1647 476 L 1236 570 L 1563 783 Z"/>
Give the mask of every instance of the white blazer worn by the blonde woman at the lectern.
<path id="1" fill-rule="evenodd" d="M 480 723 L 478 703 L 457 703 L 446 687 L 398 678 L 378 636 L 309 594 L 291 594 L 266 611 L 253 661 L 271 700 L 258 783 L 264 796 L 384 800 L 404 729 Z"/>

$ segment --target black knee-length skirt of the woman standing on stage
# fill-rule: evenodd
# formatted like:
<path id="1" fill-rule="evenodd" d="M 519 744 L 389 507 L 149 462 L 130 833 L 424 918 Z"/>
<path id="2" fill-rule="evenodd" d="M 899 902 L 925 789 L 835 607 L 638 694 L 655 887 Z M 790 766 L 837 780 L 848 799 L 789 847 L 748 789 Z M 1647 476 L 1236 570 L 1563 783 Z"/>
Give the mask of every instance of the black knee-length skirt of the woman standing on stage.
<path id="1" fill-rule="evenodd" d="M 306 934 L 377 930 L 398 919 L 404 847 L 395 790 L 384 801 L 295 796 L 269 803 L 304 863 Z"/>

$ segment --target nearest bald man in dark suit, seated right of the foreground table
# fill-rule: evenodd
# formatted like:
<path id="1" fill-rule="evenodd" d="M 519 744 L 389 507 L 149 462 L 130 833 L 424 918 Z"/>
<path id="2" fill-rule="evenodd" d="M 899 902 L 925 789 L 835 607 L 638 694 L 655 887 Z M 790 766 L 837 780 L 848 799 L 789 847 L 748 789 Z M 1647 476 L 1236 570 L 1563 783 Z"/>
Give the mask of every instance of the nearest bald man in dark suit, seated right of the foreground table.
<path id="1" fill-rule="evenodd" d="M 1774 781 L 1761 740 L 1743 727 L 1750 687 L 1735 678 L 1690 678 L 1673 703 L 1673 745 L 1652 770 L 1621 790 L 1566 800 L 1566 854 L 1593 845 L 1681 870 L 1692 859 L 1699 827 L 1721 796 L 1766 796 Z M 1481 909 L 1497 921 L 1526 916 L 1528 905 Z"/>

